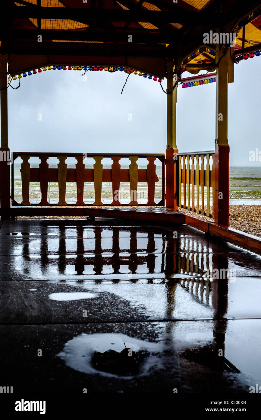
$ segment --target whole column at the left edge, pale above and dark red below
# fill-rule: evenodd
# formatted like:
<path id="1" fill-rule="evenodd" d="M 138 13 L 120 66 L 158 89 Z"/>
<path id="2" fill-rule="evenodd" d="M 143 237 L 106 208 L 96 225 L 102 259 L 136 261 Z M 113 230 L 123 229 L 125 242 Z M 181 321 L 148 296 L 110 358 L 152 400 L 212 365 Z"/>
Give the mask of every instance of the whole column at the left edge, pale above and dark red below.
<path id="1" fill-rule="evenodd" d="M 8 110 L 7 110 L 7 55 L 0 55 L 0 204 L 5 209 L 1 218 L 9 218 L 10 209 L 10 150 L 8 148 Z"/>

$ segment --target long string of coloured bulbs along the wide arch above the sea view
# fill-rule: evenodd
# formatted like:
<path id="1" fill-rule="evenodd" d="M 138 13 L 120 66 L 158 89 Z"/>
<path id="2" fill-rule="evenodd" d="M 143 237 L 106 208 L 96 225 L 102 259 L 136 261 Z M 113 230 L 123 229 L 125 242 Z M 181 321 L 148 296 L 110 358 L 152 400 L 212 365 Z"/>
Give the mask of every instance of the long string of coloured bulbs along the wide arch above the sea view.
<path id="1" fill-rule="evenodd" d="M 139 76 L 143 76 L 145 79 L 152 79 L 154 81 L 157 81 L 160 83 L 163 78 L 152 76 L 151 74 L 142 73 L 142 71 L 138 72 L 137 70 L 133 70 L 132 68 L 124 68 L 124 67 L 101 67 L 101 66 L 48 66 L 48 67 L 42 67 L 38 68 L 37 71 L 34 69 L 33 71 L 28 71 L 23 73 L 23 77 L 31 76 L 32 74 L 41 73 L 42 71 L 47 70 L 83 70 L 83 71 L 109 71 L 110 73 L 115 73 L 116 71 L 124 71 L 127 74 L 138 74 Z M 13 80 L 21 79 L 22 74 L 17 74 L 16 76 L 13 76 Z"/>

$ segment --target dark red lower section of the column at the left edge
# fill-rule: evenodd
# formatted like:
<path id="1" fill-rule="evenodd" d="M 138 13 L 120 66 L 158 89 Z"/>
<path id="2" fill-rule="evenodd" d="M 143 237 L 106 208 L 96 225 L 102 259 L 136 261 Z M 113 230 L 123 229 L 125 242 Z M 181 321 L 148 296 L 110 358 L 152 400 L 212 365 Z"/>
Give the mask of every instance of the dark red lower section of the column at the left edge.
<path id="1" fill-rule="evenodd" d="M 8 147 L 0 148 L 0 205 L 1 210 L 4 210 L 1 218 L 10 217 L 8 215 L 8 209 L 10 209 L 10 150 Z"/>

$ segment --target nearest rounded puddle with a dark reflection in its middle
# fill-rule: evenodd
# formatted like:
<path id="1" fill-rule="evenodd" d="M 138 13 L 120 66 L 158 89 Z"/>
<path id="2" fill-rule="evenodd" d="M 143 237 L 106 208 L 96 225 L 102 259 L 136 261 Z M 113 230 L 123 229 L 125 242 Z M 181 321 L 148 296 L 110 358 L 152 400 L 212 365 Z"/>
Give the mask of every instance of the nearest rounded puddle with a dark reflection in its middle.
<path id="1" fill-rule="evenodd" d="M 132 356 L 128 355 L 130 349 Z M 132 378 L 132 375 L 145 375 L 152 366 L 155 367 L 155 357 L 150 357 L 150 354 L 160 351 L 161 343 L 135 339 L 122 333 L 95 333 L 73 338 L 57 355 L 65 365 L 79 372 Z"/>

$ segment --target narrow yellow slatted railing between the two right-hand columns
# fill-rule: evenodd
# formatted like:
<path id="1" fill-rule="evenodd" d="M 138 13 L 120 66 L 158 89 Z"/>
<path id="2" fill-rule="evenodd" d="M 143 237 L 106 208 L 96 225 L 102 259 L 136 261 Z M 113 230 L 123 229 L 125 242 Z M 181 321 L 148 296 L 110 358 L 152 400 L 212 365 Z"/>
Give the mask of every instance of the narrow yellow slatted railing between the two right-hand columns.
<path id="1" fill-rule="evenodd" d="M 214 208 L 214 151 L 178 153 L 177 158 L 176 198 L 178 207 L 212 217 L 210 214 L 210 188 L 212 188 Z M 207 199 L 206 212 L 204 211 L 205 197 Z"/>

